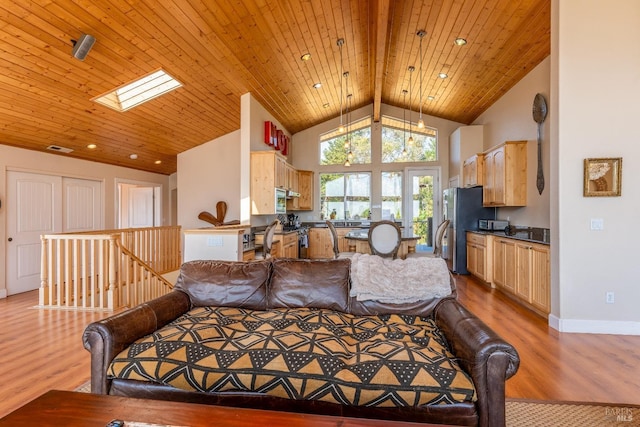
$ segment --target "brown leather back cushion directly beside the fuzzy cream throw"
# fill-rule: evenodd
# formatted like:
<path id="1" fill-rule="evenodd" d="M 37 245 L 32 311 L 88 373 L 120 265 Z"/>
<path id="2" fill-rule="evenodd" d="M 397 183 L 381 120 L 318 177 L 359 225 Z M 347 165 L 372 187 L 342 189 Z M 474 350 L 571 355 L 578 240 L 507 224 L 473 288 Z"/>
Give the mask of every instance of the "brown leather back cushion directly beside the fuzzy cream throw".
<path id="1" fill-rule="evenodd" d="M 348 259 L 275 259 L 269 308 L 328 308 L 348 312 Z"/>

